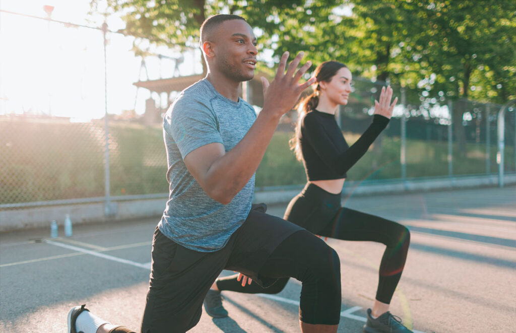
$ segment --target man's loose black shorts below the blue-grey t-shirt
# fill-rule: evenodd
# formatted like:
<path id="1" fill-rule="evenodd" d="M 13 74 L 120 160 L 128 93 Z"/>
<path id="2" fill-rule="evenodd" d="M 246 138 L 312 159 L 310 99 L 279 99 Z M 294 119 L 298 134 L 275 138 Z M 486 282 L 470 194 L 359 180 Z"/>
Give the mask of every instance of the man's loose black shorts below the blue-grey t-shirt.
<path id="1" fill-rule="evenodd" d="M 276 279 L 259 275 L 270 254 L 303 228 L 251 209 L 228 244 L 215 252 L 197 252 L 181 246 L 156 228 L 152 269 L 141 331 L 184 332 L 195 326 L 206 293 L 223 269 L 241 272 L 267 287 Z"/>

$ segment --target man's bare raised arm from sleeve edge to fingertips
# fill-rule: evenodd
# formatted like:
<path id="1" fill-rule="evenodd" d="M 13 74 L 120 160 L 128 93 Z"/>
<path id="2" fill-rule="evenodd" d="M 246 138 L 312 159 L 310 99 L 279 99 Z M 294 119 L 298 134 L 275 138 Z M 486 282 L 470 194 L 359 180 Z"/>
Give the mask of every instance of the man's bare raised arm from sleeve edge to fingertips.
<path id="1" fill-rule="evenodd" d="M 289 64 L 285 73 L 288 52 L 281 57 L 274 80 L 269 84 L 262 78 L 264 107 L 245 137 L 231 151 L 225 153 L 220 143 L 211 143 L 190 152 L 184 159 L 186 168 L 210 197 L 223 205 L 231 202 L 252 177 L 269 145 L 281 116 L 297 102 L 301 92 L 314 81 L 299 84 L 310 68 L 305 63 L 294 75 L 303 54 Z"/>

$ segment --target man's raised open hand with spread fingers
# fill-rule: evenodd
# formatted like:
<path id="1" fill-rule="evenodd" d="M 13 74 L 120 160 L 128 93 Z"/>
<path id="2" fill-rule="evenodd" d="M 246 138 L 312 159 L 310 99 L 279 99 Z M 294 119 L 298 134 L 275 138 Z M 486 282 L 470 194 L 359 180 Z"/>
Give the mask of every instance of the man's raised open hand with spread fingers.
<path id="1" fill-rule="evenodd" d="M 315 77 L 312 77 L 303 84 L 299 83 L 301 77 L 312 65 L 311 61 L 307 61 L 296 72 L 297 66 L 302 58 L 303 52 L 300 52 L 288 65 L 288 69 L 285 73 L 288 60 L 288 52 L 285 52 L 281 56 L 278 71 L 272 82 L 269 84 L 267 79 L 262 77 L 264 95 L 263 110 L 265 112 L 272 112 L 272 114 L 278 116 L 285 114 L 294 107 L 303 90 L 307 89 L 315 82 Z"/>

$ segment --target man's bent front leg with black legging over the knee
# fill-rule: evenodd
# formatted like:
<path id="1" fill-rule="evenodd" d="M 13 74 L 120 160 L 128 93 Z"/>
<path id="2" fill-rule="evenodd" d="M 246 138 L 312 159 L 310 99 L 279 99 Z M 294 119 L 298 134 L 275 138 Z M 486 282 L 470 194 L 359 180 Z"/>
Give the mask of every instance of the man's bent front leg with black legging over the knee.
<path id="1" fill-rule="evenodd" d="M 341 310 L 340 261 L 336 252 L 311 232 L 251 212 L 238 230 L 227 269 L 242 272 L 264 286 L 275 278 L 295 277 L 302 282 L 302 330 L 336 331 Z"/>

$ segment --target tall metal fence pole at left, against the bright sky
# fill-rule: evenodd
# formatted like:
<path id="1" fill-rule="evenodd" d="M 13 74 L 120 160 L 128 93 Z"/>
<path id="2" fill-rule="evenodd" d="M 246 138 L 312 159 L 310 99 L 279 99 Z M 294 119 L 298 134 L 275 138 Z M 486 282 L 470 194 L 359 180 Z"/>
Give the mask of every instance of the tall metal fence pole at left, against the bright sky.
<path id="1" fill-rule="evenodd" d="M 111 216 L 111 199 L 109 189 L 111 188 L 109 180 L 109 120 L 107 113 L 107 56 L 106 56 L 106 32 L 107 23 L 102 24 L 102 33 L 104 36 L 104 133 L 105 133 L 105 154 L 104 154 L 104 215 Z"/>

